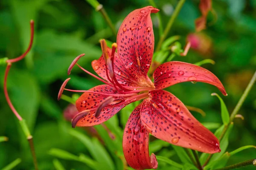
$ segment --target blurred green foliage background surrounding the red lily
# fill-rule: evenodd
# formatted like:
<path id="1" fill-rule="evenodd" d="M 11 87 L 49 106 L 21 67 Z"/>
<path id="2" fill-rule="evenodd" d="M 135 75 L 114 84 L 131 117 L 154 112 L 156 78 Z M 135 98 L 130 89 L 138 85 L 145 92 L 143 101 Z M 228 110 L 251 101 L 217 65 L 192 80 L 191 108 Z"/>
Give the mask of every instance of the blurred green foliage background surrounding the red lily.
<path id="1" fill-rule="evenodd" d="M 178 0 L 155 2 L 165 28 Z M 116 30 L 129 12 L 150 5 L 147 0 L 99 0 L 99 3 L 103 4 Z M 187 35 L 195 32 L 195 19 L 201 15 L 198 4 L 199 0 L 186 0 L 167 37 L 180 35 L 180 43 L 185 45 Z M 213 59 L 215 65 L 205 64 L 203 67 L 212 71 L 223 83 L 228 96 L 221 97 L 231 113 L 256 69 L 256 1 L 214 0 L 212 6 L 217 18 L 210 13 L 207 29 L 196 34 L 202 43 L 197 49 L 190 49 L 186 57 L 175 57 L 174 60 L 195 63 Z M 157 15 L 152 14 L 151 17 L 157 43 Z M 30 38 L 30 19 L 35 20 L 32 51 L 25 59 L 13 64 L 8 77 L 8 90 L 15 108 L 27 120 L 34 136 L 40 169 L 58 169 L 61 168 L 59 164 L 65 169 L 95 169 L 93 163 L 102 161 L 108 164 L 109 169 L 123 169 L 122 129 L 135 105 L 129 105 L 110 120 L 111 123 L 106 123 L 115 134 L 115 140 L 109 138 L 108 130 L 97 126 L 97 133 L 101 136 L 101 142 L 97 142 L 98 138 L 90 135 L 92 129 L 85 131 L 76 128 L 76 132 L 70 131 L 71 124 L 63 117 L 64 108 L 69 103 L 57 101 L 58 90 L 68 77 L 67 68 L 73 59 L 85 53 L 79 64 L 93 72 L 90 63 L 101 55 L 99 39 L 115 42 L 116 36 L 112 34 L 102 15 L 85 0 L 0 0 L 0 58 L 15 58 L 25 51 Z M 0 143 L 0 168 L 20 158 L 21 163 L 16 169 L 30 170 L 33 169 L 33 164 L 26 137 L 3 94 L 4 71 L 5 66 L 0 66 L 0 136 L 7 136 L 9 141 Z M 101 84 L 77 67 L 70 77 L 67 87 L 72 89 L 87 90 Z M 167 90 L 185 105 L 204 110 L 205 117 L 192 111 L 200 122 L 221 125 L 219 100 L 210 95 L 213 92 L 221 93 L 214 86 L 186 82 Z M 256 145 L 255 91 L 254 86 L 239 111 L 244 120 L 234 120 L 227 151 L 244 145 Z M 71 96 L 73 93 L 64 94 Z M 79 139 L 79 132 L 83 134 L 83 139 Z M 149 146 L 151 151 L 180 162 L 170 144 L 155 141 L 157 140 L 153 140 Z M 68 153 L 61 153 L 54 148 Z M 255 157 L 256 150 L 247 149 L 231 156 L 227 164 Z M 250 168 L 252 167 L 244 169 Z M 159 161 L 159 169 L 173 168 Z"/>

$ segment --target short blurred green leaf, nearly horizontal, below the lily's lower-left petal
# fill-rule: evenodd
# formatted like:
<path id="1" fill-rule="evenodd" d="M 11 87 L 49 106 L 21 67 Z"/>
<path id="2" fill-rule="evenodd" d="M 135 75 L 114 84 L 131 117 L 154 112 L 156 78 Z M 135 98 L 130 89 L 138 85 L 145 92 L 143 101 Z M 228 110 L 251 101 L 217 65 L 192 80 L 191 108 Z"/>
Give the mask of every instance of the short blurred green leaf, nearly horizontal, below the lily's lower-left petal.
<path id="1" fill-rule="evenodd" d="M 61 159 L 65 160 L 73 160 L 73 161 L 79 161 L 79 157 L 76 155 L 73 155 L 72 153 L 67 152 L 66 150 L 61 150 L 58 148 L 51 148 L 49 150 L 49 154 Z"/>

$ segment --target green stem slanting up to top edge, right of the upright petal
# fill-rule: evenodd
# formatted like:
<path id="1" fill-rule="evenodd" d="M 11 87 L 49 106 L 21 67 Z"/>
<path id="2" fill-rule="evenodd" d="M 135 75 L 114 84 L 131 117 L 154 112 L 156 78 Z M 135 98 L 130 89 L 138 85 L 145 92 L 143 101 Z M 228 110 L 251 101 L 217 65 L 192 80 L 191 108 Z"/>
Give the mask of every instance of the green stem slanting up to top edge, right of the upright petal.
<path id="1" fill-rule="evenodd" d="M 183 4 L 185 3 L 186 0 L 180 0 L 177 7 L 175 8 L 172 17 L 170 18 L 169 22 L 167 23 L 167 26 L 163 32 L 163 35 L 160 37 L 160 40 L 157 44 L 157 48 L 156 51 L 159 51 L 161 48 L 161 45 L 163 43 L 163 41 L 165 40 L 168 32 L 170 31 L 170 29 L 172 28 L 172 24 L 174 23 L 174 20 L 177 18 L 178 14 L 180 13 L 180 9 L 182 8 Z"/>

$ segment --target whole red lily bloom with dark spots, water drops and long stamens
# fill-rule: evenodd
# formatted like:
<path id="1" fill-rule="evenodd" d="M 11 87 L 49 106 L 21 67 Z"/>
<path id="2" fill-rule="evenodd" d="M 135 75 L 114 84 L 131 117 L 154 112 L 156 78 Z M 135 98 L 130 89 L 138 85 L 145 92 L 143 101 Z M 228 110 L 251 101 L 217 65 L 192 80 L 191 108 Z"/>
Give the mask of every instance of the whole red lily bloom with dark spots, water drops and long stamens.
<path id="1" fill-rule="evenodd" d="M 204 68 L 177 61 L 160 65 L 154 71 L 154 83 L 147 75 L 154 52 L 150 14 L 158 11 L 147 6 L 128 14 L 112 49 L 107 47 L 105 40 L 101 41 L 103 54 L 92 62 L 92 67 L 102 79 L 76 63 L 84 54 L 70 65 L 68 74 L 76 64 L 105 85 L 76 91 L 64 88 L 67 79 L 58 96 L 60 98 L 64 90 L 84 92 L 76 101 L 79 113 L 73 117 L 73 127 L 99 125 L 129 103 L 144 99 L 128 119 L 122 144 L 126 161 L 137 170 L 157 168 L 154 153 L 149 156 L 149 133 L 177 146 L 205 153 L 220 152 L 218 139 L 192 116 L 176 96 L 162 90 L 180 82 L 196 81 L 215 85 L 227 95 L 220 80 Z"/>

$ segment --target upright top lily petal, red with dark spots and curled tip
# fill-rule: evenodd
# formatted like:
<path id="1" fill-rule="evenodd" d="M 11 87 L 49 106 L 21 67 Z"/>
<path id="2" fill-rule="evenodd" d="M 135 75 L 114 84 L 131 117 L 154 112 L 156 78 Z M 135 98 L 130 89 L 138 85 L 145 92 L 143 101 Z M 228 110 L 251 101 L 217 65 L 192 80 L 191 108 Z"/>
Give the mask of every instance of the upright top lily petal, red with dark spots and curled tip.
<path id="1" fill-rule="evenodd" d="M 152 6 L 132 11 L 123 21 L 117 34 L 117 53 L 123 65 L 134 77 L 147 79 L 154 52 L 154 32 L 151 13 L 159 9 Z"/>

